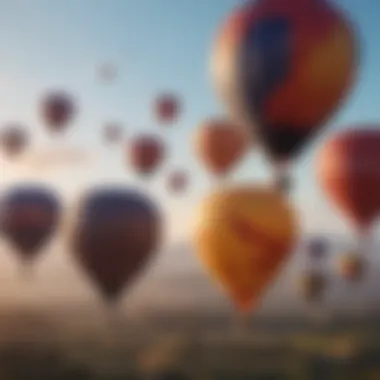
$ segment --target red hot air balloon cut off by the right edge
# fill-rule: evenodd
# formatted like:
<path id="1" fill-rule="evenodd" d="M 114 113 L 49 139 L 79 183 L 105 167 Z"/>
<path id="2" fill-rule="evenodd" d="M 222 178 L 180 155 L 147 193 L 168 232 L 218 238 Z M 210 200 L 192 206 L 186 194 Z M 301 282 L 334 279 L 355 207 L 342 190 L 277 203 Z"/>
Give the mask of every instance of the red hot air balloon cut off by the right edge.
<path id="1" fill-rule="evenodd" d="M 328 140 L 318 156 L 322 189 L 352 221 L 360 245 L 380 212 L 380 130 L 359 126 Z M 364 250 L 364 246 L 359 247 Z"/>

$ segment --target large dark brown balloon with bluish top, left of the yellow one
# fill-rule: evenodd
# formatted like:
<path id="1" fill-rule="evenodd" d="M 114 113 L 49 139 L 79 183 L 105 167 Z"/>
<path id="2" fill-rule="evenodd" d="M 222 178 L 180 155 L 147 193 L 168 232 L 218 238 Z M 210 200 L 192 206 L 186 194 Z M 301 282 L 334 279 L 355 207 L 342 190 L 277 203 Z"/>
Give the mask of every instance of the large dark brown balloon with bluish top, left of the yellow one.
<path id="1" fill-rule="evenodd" d="M 145 195 L 101 187 L 81 200 L 69 240 L 76 262 L 115 302 L 152 257 L 161 229 L 160 212 Z"/>

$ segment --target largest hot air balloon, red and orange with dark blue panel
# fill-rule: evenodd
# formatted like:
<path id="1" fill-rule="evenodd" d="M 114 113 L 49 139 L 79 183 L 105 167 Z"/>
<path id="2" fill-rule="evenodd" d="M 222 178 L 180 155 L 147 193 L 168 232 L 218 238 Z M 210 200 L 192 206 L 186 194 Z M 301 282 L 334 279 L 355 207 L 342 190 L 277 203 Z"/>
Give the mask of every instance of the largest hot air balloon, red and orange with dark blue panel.
<path id="1" fill-rule="evenodd" d="M 289 166 L 354 83 L 356 37 L 329 1 L 261 0 L 239 6 L 211 56 L 217 92 L 261 140 L 283 190 Z"/>

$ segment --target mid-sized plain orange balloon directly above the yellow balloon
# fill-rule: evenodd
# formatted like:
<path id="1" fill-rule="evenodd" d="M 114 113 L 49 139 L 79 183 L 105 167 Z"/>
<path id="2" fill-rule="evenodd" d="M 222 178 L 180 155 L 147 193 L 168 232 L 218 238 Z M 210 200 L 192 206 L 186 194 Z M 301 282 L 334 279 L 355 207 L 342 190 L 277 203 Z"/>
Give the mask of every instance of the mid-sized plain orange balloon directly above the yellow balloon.
<path id="1" fill-rule="evenodd" d="M 229 121 L 209 119 L 195 133 L 194 149 L 207 170 L 224 177 L 240 162 L 250 144 L 244 132 Z"/>

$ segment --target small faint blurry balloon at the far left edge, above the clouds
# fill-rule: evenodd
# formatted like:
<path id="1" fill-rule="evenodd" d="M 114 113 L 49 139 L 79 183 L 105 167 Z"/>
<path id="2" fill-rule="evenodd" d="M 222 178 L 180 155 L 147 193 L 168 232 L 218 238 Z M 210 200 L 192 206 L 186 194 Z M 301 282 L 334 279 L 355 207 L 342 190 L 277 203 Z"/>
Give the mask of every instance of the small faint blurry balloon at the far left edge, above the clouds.
<path id="1" fill-rule="evenodd" d="M 28 144 L 29 136 L 19 124 L 8 124 L 0 130 L 1 150 L 7 157 L 20 155 Z"/>

